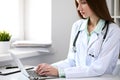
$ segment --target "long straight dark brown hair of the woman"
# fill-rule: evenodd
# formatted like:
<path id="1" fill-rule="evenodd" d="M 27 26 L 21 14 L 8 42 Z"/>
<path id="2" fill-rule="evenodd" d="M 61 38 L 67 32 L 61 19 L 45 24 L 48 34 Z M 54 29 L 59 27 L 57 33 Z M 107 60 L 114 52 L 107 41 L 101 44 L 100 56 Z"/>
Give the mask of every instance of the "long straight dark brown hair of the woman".
<path id="1" fill-rule="evenodd" d="M 92 9 L 92 11 L 101 19 L 104 19 L 108 22 L 114 22 L 113 19 L 110 16 L 106 0 L 86 0 L 88 6 Z M 75 0 L 76 8 L 78 7 L 78 3 Z M 80 14 L 79 10 L 77 10 L 78 15 L 83 18 L 83 16 Z"/>

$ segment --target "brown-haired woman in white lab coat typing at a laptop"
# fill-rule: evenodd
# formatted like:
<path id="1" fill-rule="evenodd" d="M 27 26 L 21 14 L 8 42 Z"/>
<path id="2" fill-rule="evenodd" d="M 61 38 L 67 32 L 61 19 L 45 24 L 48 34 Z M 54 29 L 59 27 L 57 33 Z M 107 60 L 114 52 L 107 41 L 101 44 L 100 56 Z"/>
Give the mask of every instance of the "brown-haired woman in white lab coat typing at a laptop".
<path id="1" fill-rule="evenodd" d="M 52 65 L 39 64 L 39 75 L 78 78 L 112 74 L 120 52 L 120 29 L 106 0 L 75 0 L 75 4 L 82 19 L 73 24 L 67 58 Z"/>

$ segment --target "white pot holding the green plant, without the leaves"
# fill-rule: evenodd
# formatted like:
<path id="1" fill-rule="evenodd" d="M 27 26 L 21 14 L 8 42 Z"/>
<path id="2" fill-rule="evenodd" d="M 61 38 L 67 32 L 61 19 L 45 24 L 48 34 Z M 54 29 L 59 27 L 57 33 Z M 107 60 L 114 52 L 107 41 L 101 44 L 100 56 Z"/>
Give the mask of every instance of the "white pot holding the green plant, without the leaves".
<path id="1" fill-rule="evenodd" d="M 0 41 L 0 54 L 8 53 L 9 49 L 10 49 L 9 41 Z"/>

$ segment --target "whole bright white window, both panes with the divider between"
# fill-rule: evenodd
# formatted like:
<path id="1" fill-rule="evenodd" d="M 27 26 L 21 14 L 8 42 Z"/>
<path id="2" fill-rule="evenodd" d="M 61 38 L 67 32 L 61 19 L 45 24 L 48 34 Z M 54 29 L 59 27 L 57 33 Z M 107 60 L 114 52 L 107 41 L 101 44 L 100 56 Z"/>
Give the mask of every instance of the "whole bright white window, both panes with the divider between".
<path id="1" fill-rule="evenodd" d="M 51 0 L 0 0 L 0 30 L 13 40 L 51 43 Z"/>

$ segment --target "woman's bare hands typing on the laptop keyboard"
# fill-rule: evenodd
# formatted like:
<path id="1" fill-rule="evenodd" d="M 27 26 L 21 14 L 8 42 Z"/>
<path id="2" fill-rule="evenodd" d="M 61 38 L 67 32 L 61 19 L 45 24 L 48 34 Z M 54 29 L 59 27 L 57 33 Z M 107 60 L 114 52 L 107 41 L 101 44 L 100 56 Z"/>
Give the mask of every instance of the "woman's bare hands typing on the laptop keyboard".
<path id="1" fill-rule="evenodd" d="M 36 69 L 36 73 L 41 76 L 56 76 L 56 77 L 58 77 L 58 69 L 49 64 L 46 64 L 46 63 L 39 64 Z"/>

